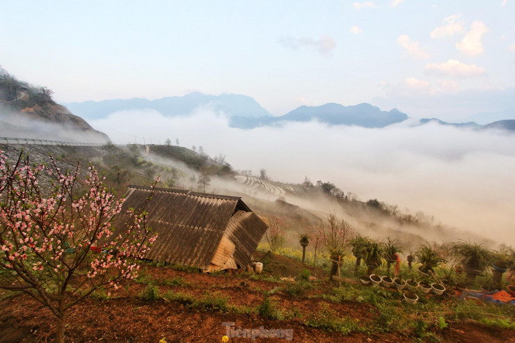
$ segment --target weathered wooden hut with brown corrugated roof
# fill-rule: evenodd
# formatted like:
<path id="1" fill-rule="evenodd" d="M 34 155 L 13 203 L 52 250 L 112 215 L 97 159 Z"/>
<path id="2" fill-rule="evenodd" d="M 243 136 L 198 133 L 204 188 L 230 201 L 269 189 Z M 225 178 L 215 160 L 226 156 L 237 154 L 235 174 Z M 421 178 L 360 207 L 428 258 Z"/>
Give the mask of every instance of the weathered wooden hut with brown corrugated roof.
<path id="1" fill-rule="evenodd" d="M 115 228 L 127 219 L 127 209 L 143 206 L 150 191 L 129 186 Z M 267 231 L 267 224 L 234 196 L 157 188 L 146 211 L 158 238 L 145 258 L 204 271 L 246 268 Z"/>

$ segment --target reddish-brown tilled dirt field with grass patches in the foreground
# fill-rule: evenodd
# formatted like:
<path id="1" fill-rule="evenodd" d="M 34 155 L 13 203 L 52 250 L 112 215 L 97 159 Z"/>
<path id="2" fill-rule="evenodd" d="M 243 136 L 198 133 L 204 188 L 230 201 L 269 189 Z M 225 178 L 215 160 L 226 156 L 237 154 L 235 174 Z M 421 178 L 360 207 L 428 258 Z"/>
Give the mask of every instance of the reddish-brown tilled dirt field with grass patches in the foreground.
<path id="1" fill-rule="evenodd" d="M 200 298 L 205 294 L 227 297 L 229 305 L 256 307 L 262 303 L 265 290 L 278 282 L 252 280 L 241 276 L 210 276 L 202 273 L 177 271 L 171 268 L 148 266 L 143 272 L 159 286 L 159 292 L 190 294 Z M 180 278 L 180 285 L 163 285 L 164 280 Z M 69 342 L 221 342 L 225 334 L 223 323 L 233 322 L 235 328 L 292 330 L 290 342 L 414 342 L 410 332 L 397 333 L 342 333 L 327 332 L 306 326 L 301 319 L 271 320 L 250 314 L 203 312 L 176 301 L 159 298 L 142 301 L 138 293 L 147 285 L 134 281 L 113 292 L 108 300 L 90 297 L 68 313 L 65 330 Z M 328 285 L 327 287 L 331 287 Z M 302 296 L 278 292 L 270 296 L 279 308 L 295 310 L 299 318 L 306 318 L 324 306 L 339 316 L 349 316 L 361 325 L 372 326 L 377 309 L 366 303 L 352 301 L 331 302 L 313 298 L 327 292 L 324 284 L 310 289 Z M 324 305 L 326 304 L 326 305 Z M 29 296 L 10 296 L 0 302 L 0 342 L 51 342 L 55 322 L 49 310 Z M 500 330 L 477 323 L 450 324 L 438 332 L 443 342 L 515 342 L 512 330 Z M 232 337 L 230 342 L 251 342 L 251 338 Z M 257 338 L 255 342 L 287 342 L 284 338 Z"/>

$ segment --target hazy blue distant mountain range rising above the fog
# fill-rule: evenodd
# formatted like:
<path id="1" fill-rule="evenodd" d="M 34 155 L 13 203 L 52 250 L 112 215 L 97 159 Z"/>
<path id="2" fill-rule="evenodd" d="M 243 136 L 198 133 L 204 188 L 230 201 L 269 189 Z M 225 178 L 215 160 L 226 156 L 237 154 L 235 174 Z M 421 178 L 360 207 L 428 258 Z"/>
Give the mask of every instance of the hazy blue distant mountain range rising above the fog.
<path id="1" fill-rule="evenodd" d="M 240 129 L 253 129 L 255 127 L 280 125 L 283 122 L 309 122 L 317 120 L 328 125 L 354 125 L 358 127 L 379 128 L 403 122 L 409 117 L 397 109 L 382 111 L 371 104 L 358 104 L 343 106 L 329 103 L 321 106 L 300 106 L 285 115 L 273 116 L 264 109 L 255 99 L 246 95 L 225 94 L 205 95 L 190 93 L 182 97 L 164 97 L 162 99 L 113 99 L 100 102 L 72 102 L 65 104 L 70 111 L 80 115 L 86 120 L 106 118 L 116 111 L 134 109 L 154 109 L 167 117 L 176 115 L 189 115 L 199 109 L 208 109 L 230 118 L 230 126 Z M 440 125 L 451 125 L 462 129 L 513 129 L 514 120 L 501 120 L 488 125 L 479 125 L 476 122 L 450 123 L 437 118 L 424 118 L 420 125 L 437 122 Z"/>

